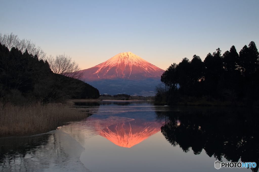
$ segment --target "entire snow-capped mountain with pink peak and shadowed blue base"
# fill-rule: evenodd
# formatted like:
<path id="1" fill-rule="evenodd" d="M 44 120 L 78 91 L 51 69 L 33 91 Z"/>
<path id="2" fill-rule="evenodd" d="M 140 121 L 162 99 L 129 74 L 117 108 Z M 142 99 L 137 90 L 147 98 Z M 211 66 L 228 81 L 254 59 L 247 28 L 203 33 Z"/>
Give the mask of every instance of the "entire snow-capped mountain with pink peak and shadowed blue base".
<path id="1" fill-rule="evenodd" d="M 81 70 L 81 80 L 100 94 L 153 96 L 164 70 L 131 53 L 119 53 L 94 67 Z"/>

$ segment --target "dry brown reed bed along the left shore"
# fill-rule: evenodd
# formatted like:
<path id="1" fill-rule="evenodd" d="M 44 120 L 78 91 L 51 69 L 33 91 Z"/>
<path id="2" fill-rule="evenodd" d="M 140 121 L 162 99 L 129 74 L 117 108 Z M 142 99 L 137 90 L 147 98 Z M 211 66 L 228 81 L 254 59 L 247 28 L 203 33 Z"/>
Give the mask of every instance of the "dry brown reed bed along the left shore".
<path id="1" fill-rule="evenodd" d="M 66 105 L 8 105 L 0 109 L 0 136 L 46 133 L 69 121 L 82 120 L 88 116 L 88 113 Z"/>

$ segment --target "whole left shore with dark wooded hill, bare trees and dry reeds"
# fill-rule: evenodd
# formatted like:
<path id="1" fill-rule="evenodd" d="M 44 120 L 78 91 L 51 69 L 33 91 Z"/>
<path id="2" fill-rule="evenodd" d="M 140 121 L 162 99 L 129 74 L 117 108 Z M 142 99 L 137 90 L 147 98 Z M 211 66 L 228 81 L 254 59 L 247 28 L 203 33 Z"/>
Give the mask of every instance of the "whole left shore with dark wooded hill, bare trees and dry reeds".
<path id="1" fill-rule="evenodd" d="M 30 40 L 0 34 L 0 137 L 46 133 L 91 115 L 67 105 L 100 96 L 79 69 L 65 54 L 46 57 Z"/>

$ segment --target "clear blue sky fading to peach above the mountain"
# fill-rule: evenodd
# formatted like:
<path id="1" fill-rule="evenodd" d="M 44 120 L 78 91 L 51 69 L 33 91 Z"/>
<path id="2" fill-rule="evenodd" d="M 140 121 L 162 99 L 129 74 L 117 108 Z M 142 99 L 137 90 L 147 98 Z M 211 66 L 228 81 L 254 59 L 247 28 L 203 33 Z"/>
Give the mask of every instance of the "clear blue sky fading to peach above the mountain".
<path id="1" fill-rule="evenodd" d="M 0 32 L 30 39 L 81 69 L 132 52 L 161 69 L 216 48 L 259 49 L 258 0 L 0 0 Z"/>

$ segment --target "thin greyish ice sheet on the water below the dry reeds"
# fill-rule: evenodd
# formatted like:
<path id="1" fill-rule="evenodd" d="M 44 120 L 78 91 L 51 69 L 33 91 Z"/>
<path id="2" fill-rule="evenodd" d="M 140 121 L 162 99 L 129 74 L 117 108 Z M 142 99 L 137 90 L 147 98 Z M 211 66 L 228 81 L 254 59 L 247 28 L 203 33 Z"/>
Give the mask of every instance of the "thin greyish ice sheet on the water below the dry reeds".
<path id="1" fill-rule="evenodd" d="M 34 149 L 19 154 L 3 155 L 0 171 L 91 172 L 80 161 L 80 155 L 84 151 L 80 143 L 62 130 L 55 130 L 48 134 L 47 142 Z"/>

